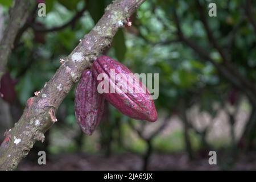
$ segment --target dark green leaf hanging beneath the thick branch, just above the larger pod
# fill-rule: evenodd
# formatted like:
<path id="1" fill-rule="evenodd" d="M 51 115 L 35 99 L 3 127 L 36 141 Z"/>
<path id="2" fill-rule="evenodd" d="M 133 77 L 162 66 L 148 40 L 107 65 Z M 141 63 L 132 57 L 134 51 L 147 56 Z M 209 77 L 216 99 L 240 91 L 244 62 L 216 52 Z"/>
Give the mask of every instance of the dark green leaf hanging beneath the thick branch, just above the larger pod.
<path id="1" fill-rule="evenodd" d="M 115 49 L 115 56 L 118 61 L 122 62 L 125 59 L 126 44 L 125 35 L 121 29 L 117 31 L 117 34 L 113 38 L 113 48 Z"/>

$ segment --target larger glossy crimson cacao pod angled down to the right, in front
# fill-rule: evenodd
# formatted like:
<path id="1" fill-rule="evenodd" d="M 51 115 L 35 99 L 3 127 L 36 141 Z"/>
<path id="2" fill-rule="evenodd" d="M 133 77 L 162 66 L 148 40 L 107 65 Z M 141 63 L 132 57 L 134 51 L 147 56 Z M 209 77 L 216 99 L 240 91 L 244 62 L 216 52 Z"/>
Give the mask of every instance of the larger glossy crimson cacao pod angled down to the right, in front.
<path id="1" fill-rule="evenodd" d="M 114 80 L 111 76 L 112 71 L 114 71 L 115 75 Z M 148 92 L 146 86 L 144 86 L 143 83 L 137 77 L 135 77 L 125 65 L 115 61 L 111 57 L 101 56 L 94 61 L 92 73 L 98 84 L 100 84 L 102 81 L 97 79 L 98 75 L 100 75 L 100 73 L 105 73 L 104 75 L 106 75 L 106 77 L 104 77 L 104 79 L 107 79 L 109 82 L 109 88 L 114 87 L 117 89 L 114 93 L 109 89 L 109 93 L 102 94 L 104 94 L 105 99 L 108 100 L 110 104 L 115 106 L 119 111 L 121 111 L 121 113 L 134 119 L 143 119 L 150 122 L 156 121 L 158 114 L 155 109 L 154 101 L 151 99 L 150 93 Z M 122 73 L 122 78 L 117 76 L 119 73 Z M 133 80 L 132 85 L 128 81 L 131 78 Z M 117 87 L 117 85 L 122 84 L 124 87 L 126 87 L 124 90 L 144 89 L 144 93 L 123 92 L 123 89 L 118 89 Z M 139 86 L 141 87 L 139 88 Z M 120 86 L 119 88 L 122 87 Z"/>

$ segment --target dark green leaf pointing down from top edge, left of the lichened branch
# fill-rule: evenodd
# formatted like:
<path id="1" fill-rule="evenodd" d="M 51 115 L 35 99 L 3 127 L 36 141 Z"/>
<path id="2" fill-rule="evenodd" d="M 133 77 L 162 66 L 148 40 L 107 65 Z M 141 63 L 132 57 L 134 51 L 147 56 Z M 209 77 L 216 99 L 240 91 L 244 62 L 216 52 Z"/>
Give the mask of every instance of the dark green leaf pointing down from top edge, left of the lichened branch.
<path id="1" fill-rule="evenodd" d="M 94 23 L 96 24 L 100 20 L 101 16 L 104 14 L 105 2 L 104 0 L 89 0 L 88 1 L 88 11 Z"/>

